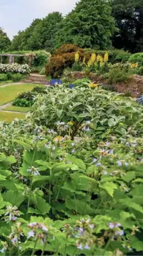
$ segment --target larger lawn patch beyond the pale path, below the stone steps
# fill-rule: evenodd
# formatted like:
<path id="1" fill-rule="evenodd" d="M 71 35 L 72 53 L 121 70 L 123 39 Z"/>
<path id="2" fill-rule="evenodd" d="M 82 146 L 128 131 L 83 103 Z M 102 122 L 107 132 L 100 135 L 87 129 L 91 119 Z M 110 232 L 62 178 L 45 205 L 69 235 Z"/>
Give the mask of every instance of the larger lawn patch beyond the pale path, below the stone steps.
<path id="1" fill-rule="evenodd" d="M 26 90 L 32 90 L 36 85 L 34 84 L 21 84 L 21 85 L 8 85 L 0 87 L 0 105 L 10 103 L 19 93 L 24 93 Z"/>

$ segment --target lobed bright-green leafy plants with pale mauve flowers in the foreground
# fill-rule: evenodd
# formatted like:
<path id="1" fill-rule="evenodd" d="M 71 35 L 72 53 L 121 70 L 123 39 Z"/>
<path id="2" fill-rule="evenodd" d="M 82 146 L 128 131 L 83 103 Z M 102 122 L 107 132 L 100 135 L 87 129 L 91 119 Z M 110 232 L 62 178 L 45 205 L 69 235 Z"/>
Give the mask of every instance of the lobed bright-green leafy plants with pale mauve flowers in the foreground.
<path id="1" fill-rule="evenodd" d="M 73 143 L 59 137 L 39 126 L 29 138 L 14 139 L 24 147 L 20 161 L 17 153 L 0 154 L 1 251 L 141 253 L 142 138 L 129 130 L 95 146 L 86 138 Z"/>

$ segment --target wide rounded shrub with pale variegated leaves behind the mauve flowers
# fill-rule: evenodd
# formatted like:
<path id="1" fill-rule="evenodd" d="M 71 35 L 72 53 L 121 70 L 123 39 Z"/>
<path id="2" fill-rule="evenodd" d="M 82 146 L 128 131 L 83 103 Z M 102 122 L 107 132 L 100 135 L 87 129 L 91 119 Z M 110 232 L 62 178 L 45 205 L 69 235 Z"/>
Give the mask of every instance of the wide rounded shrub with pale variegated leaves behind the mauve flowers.
<path id="1" fill-rule="evenodd" d="M 76 87 L 68 89 L 65 85 L 48 87 L 47 95 L 38 95 L 29 117 L 30 123 L 48 125 L 54 128 L 56 122 L 73 122 L 71 137 L 82 136 L 82 125 L 92 121 L 90 136 L 106 138 L 107 134 L 119 136 L 132 126 L 142 131 L 142 106 L 133 100 L 122 98 L 117 93 L 102 89 Z M 134 105 L 134 108 L 133 108 Z"/>

